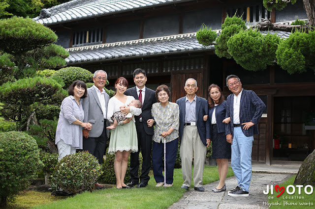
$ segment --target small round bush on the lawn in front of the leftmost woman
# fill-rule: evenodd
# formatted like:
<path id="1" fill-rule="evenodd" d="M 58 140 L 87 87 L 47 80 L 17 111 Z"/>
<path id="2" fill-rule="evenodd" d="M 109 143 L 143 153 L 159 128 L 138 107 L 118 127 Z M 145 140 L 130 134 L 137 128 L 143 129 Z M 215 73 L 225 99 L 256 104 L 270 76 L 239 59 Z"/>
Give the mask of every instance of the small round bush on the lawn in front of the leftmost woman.
<path id="1" fill-rule="evenodd" d="M 50 178 L 51 187 L 64 192 L 80 193 L 92 191 L 95 182 L 103 173 L 96 157 L 89 152 L 78 152 L 63 157 L 56 165 Z"/>

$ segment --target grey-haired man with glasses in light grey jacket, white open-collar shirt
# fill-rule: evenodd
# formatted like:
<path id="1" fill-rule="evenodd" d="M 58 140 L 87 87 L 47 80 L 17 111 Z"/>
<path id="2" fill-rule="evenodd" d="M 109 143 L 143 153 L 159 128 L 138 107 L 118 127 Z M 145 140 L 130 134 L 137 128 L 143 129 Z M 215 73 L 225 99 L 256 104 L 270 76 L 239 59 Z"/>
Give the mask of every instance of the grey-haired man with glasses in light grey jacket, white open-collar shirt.
<path id="1" fill-rule="evenodd" d="M 109 131 L 106 129 L 106 115 L 109 95 L 105 92 L 104 86 L 107 80 L 107 73 L 97 70 L 94 73 L 94 85 L 88 88 L 88 97 L 83 99 L 84 123 L 91 123 L 91 131 L 83 130 L 83 150 L 89 151 L 96 157 L 98 163 L 102 163 Z M 104 185 L 95 183 L 96 188 Z"/>

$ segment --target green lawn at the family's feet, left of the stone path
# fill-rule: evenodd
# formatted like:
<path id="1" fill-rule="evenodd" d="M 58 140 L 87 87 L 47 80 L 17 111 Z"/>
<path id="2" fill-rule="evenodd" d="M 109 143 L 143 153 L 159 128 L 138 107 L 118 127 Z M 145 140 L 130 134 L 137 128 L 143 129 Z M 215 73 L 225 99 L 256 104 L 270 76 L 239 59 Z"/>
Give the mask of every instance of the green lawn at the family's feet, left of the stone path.
<path id="1" fill-rule="evenodd" d="M 229 168 L 228 177 L 233 176 L 232 169 Z M 218 168 L 216 166 L 205 165 L 203 173 L 203 184 L 219 180 Z M 174 183 L 172 187 L 155 187 L 156 182 L 151 176 L 146 188 L 116 189 L 115 186 L 109 189 L 95 190 L 94 192 L 83 192 L 73 197 L 60 200 L 51 196 L 48 192 L 25 192 L 30 193 L 29 197 L 22 198 L 18 195 L 14 203 L 10 203 L 10 208 L 30 208 L 39 209 L 72 209 L 72 208 L 168 208 L 177 202 L 185 189 L 181 188 L 183 183 L 182 169 L 174 169 Z M 193 187 L 193 185 L 191 185 Z M 31 201 L 30 196 L 36 196 L 38 199 Z M 39 197 L 41 196 L 41 197 Z M 22 201 L 22 199 L 23 201 Z M 35 198 L 35 199 L 36 199 Z M 30 199 L 28 203 L 27 200 Z M 39 199 L 46 199 L 39 201 Z"/>

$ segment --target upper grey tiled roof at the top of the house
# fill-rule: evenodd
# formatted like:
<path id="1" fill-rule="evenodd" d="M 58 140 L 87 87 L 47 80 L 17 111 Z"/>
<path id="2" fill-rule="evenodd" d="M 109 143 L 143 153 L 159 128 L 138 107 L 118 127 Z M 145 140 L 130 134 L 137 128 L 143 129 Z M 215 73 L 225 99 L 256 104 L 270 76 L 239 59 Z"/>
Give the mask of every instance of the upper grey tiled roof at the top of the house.
<path id="1" fill-rule="evenodd" d="M 40 16 L 33 20 L 40 24 L 53 25 L 183 1 L 190 0 L 71 0 L 49 9 L 42 9 Z"/>

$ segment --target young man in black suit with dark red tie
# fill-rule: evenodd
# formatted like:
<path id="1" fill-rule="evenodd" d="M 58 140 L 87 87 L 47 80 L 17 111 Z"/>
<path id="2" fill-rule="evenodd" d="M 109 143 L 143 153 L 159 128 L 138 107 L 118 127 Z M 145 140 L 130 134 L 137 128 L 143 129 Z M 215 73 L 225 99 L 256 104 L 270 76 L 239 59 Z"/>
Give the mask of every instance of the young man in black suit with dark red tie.
<path id="1" fill-rule="evenodd" d="M 130 183 L 127 185 L 133 187 L 137 185 L 138 188 L 146 187 L 150 180 L 149 171 L 151 169 L 151 149 L 153 137 L 153 123 L 151 115 L 152 104 L 157 102 L 156 92 L 145 86 L 147 81 L 146 72 L 137 68 L 133 71 L 133 81 L 135 87 L 126 90 L 125 94 L 133 96 L 136 100 L 142 102 L 142 113 L 139 116 L 134 116 L 136 121 L 136 130 L 138 135 L 138 152 L 130 154 Z M 128 113 L 129 107 L 122 110 L 122 113 Z M 139 152 L 142 154 L 142 169 L 141 176 L 138 176 L 139 169 Z M 140 183 L 139 183 L 140 179 Z"/>

